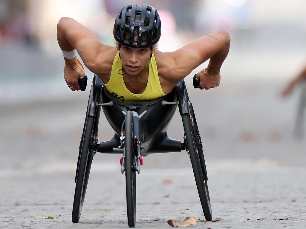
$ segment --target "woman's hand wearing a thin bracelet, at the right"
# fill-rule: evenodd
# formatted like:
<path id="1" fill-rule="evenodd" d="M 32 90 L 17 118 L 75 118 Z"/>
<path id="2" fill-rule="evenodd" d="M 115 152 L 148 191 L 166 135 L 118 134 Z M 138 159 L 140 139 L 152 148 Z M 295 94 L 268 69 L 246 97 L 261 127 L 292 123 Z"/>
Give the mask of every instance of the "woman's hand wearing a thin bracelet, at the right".
<path id="1" fill-rule="evenodd" d="M 220 85 L 221 75 L 218 72 L 212 72 L 204 68 L 202 71 L 196 74 L 196 78 L 200 80 L 199 88 L 201 90 L 208 90 L 210 88 L 218 87 Z"/>

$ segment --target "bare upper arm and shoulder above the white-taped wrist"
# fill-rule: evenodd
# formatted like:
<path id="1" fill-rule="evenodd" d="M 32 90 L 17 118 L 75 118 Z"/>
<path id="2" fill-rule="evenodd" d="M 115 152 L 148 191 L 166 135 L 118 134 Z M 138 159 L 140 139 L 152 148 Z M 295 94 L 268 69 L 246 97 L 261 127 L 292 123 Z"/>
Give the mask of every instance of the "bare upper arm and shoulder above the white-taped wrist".
<path id="1" fill-rule="evenodd" d="M 107 66 L 108 53 L 114 49 L 103 45 L 98 38 L 84 25 L 68 17 L 62 17 L 57 26 L 57 39 L 64 51 L 76 49 L 85 66 L 94 73 L 104 73 L 111 70 Z M 68 59 L 65 63 L 70 65 Z M 111 63 L 110 63 L 111 64 Z"/>

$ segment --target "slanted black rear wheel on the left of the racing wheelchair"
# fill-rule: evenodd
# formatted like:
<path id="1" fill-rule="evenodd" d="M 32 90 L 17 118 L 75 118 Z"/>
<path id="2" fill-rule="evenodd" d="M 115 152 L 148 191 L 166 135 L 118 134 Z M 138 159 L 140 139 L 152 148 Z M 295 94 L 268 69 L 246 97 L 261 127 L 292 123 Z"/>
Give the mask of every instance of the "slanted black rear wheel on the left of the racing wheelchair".
<path id="1" fill-rule="evenodd" d="M 87 116 L 84 123 L 83 135 L 80 143 L 78 166 L 76 168 L 76 188 L 74 192 L 72 207 L 72 222 L 78 223 L 82 212 L 86 194 L 91 162 L 95 155 L 95 144 L 97 143 L 97 119 Z"/>

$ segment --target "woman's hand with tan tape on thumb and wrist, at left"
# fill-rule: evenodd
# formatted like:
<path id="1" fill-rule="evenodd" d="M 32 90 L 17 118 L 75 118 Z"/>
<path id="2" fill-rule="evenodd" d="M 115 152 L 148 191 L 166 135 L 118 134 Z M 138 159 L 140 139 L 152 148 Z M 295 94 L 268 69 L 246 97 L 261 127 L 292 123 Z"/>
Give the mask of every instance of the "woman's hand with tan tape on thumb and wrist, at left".
<path id="1" fill-rule="evenodd" d="M 80 65 L 82 66 L 82 64 L 80 64 Z M 80 86 L 79 86 L 78 80 L 79 80 L 79 78 L 84 77 L 84 74 L 85 74 L 84 71 L 81 71 L 79 73 L 79 72 L 77 72 L 75 70 L 74 67 L 72 67 L 71 65 L 68 65 L 68 64 L 65 63 L 65 66 L 64 66 L 64 79 L 65 79 L 68 87 L 72 91 L 80 90 Z"/>

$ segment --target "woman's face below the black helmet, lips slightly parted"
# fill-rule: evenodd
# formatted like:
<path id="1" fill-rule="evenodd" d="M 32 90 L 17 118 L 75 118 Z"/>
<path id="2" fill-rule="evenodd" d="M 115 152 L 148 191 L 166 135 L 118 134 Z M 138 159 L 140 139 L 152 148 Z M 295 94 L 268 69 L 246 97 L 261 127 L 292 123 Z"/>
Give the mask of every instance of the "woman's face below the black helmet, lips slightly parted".
<path id="1" fill-rule="evenodd" d="M 129 75 L 138 75 L 145 67 L 149 67 L 151 48 L 129 48 L 121 46 L 122 67 Z"/>

